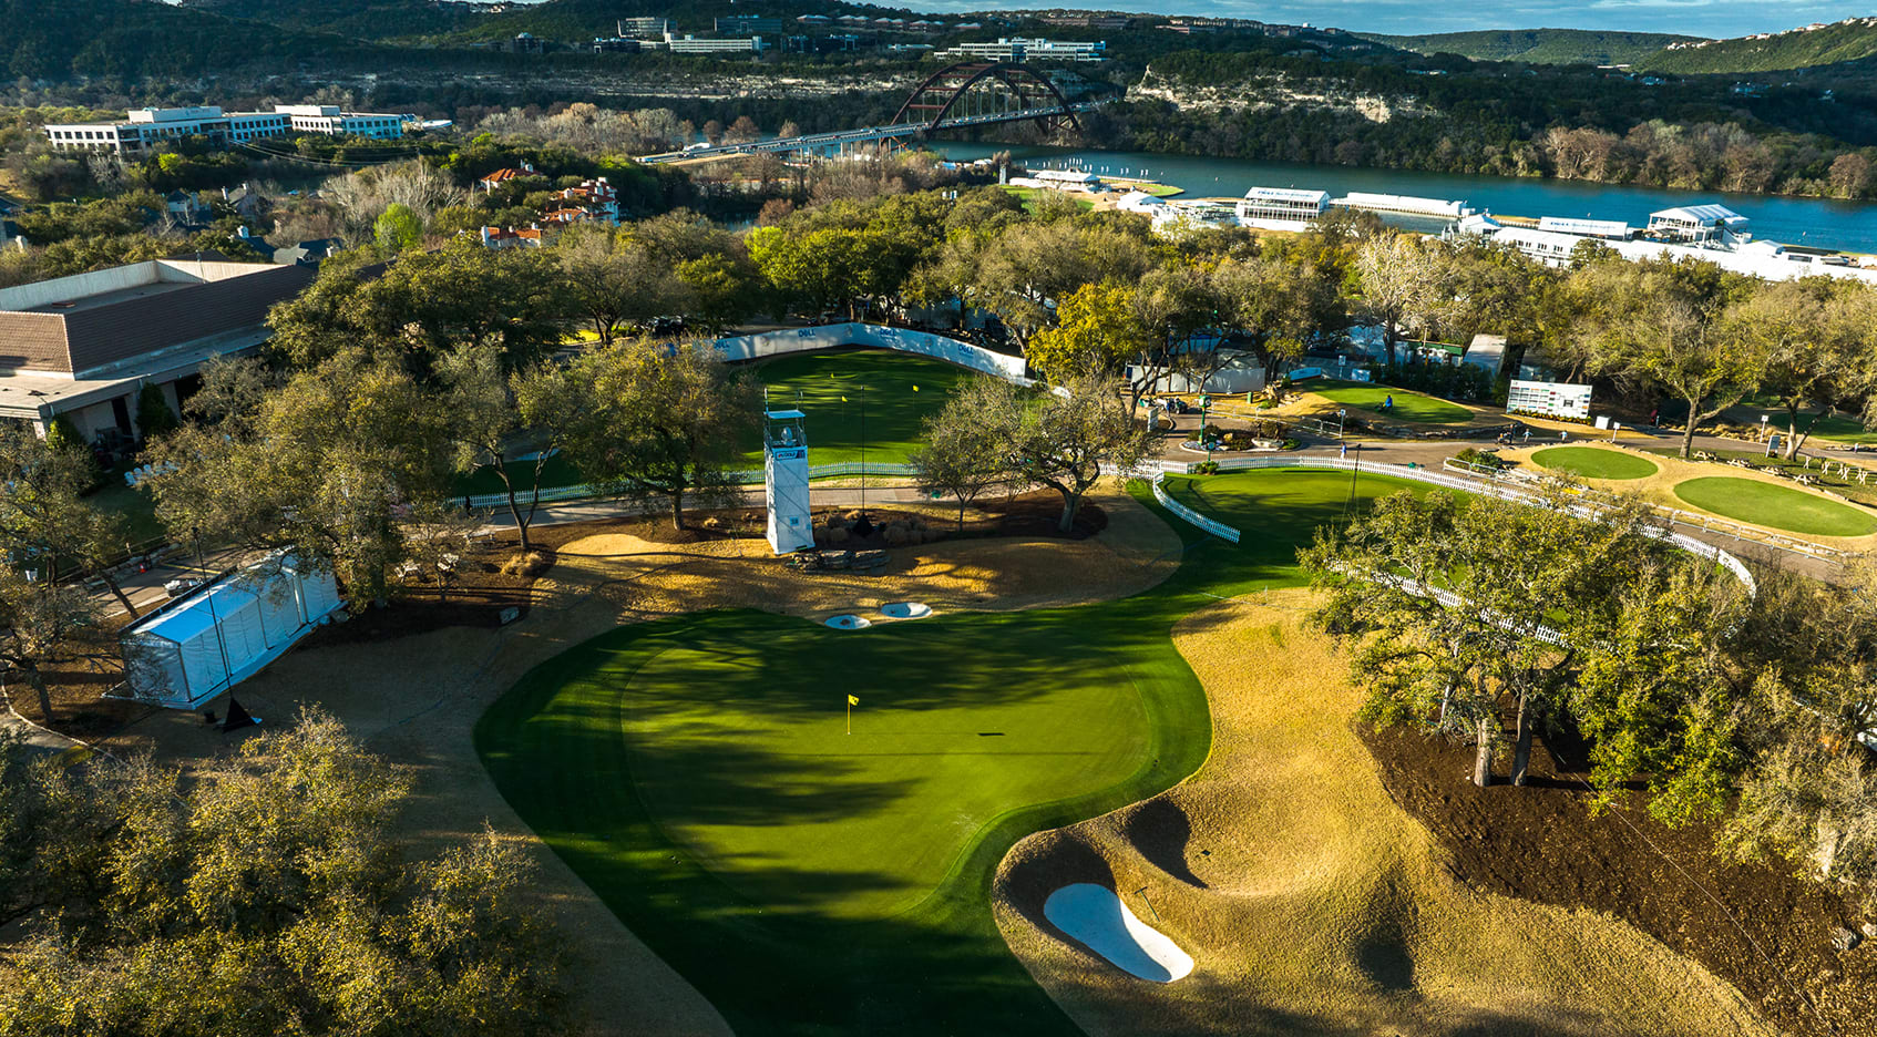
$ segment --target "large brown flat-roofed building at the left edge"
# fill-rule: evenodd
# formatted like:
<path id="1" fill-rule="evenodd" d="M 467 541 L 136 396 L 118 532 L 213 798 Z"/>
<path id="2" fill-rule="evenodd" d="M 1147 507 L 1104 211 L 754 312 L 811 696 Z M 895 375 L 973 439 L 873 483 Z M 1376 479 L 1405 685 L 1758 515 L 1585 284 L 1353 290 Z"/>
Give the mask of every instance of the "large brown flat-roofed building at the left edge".
<path id="1" fill-rule="evenodd" d="M 210 356 L 268 339 L 267 311 L 300 294 L 312 266 L 154 259 L 0 291 L 0 420 L 39 435 L 64 414 L 86 443 L 137 439 L 137 394 L 171 409 Z"/>

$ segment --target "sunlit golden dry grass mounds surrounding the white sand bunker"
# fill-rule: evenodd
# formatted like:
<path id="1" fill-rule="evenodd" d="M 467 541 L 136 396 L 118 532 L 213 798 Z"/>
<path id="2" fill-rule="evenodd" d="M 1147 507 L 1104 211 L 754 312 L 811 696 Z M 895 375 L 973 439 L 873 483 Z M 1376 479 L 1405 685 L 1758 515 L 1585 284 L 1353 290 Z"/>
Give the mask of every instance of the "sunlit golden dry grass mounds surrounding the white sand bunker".
<path id="1" fill-rule="evenodd" d="M 1770 1033 L 1731 986 L 1625 924 L 1453 881 L 1350 731 L 1361 696 L 1303 626 L 1306 604 L 1271 593 L 1175 626 L 1213 705 L 1205 767 L 1030 836 L 999 868 L 1006 941 L 1083 1029 Z M 1137 981 L 1066 943 L 1042 921 L 1066 881 L 1121 891 L 1196 971 Z"/>

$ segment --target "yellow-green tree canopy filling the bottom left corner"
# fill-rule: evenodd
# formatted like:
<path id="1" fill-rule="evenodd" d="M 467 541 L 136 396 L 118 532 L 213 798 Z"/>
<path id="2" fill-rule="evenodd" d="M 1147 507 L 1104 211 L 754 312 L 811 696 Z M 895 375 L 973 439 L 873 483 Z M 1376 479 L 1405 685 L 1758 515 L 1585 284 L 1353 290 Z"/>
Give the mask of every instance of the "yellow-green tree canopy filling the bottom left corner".
<path id="1" fill-rule="evenodd" d="M 4 748 L 4 746 L 0 746 Z M 0 758 L 0 1037 L 569 1031 L 533 866 L 488 833 L 405 861 L 405 773 L 327 716 L 191 780 Z M 8 876 L 8 878 L 11 878 Z"/>

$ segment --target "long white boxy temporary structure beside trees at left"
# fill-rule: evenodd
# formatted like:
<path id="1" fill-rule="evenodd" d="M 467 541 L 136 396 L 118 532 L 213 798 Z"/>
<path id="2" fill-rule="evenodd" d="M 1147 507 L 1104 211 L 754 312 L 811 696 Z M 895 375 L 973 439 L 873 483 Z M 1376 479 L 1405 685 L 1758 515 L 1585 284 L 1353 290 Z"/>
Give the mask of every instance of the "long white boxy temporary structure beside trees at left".
<path id="1" fill-rule="evenodd" d="M 124 690 L 193 709 L 253 677 L 340 606 L 332 574 L 293 557 L 231 572 L 124 628 Z"/>

